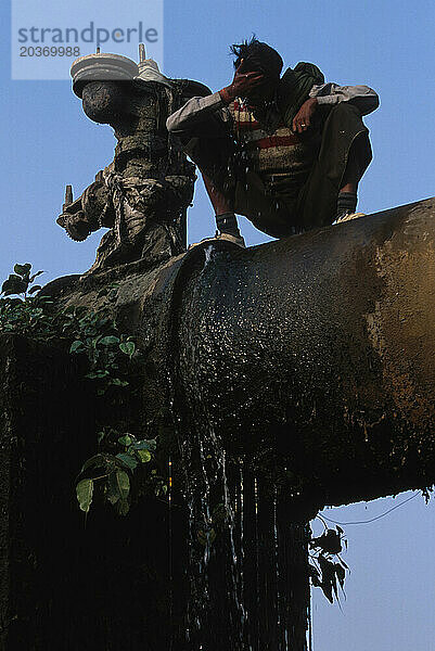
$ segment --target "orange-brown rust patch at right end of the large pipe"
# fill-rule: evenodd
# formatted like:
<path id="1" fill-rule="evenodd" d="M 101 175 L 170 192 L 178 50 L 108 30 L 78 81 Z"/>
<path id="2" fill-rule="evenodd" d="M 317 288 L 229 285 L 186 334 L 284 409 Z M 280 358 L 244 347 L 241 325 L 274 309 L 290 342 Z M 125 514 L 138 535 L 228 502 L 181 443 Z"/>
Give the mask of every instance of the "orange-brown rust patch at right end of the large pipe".
<path id="1" fill-rule="evenodd" d="M 401 416 L 419 429 L 435 421 L 433 238 L 408 219 L 400 233 L 378 247 L 375 267 L 384 289 L 373 311 L 366 314 L 384 388 Z"/>

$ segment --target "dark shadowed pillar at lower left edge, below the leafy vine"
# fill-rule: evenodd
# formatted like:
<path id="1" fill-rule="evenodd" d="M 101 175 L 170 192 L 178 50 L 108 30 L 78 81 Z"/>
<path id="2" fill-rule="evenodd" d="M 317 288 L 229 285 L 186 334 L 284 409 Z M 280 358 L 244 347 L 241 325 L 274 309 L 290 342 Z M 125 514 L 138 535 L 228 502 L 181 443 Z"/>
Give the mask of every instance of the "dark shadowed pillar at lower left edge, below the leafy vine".
<path id="1" fill-rule="evenodd" d="M 84 528 L 74 480 L 92 412 L 56 348 L 3 334 L 0 368 L 0 648 L 66 649 Z"/>

